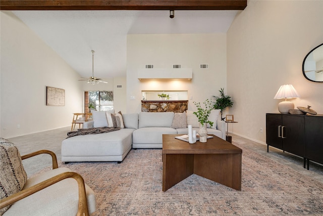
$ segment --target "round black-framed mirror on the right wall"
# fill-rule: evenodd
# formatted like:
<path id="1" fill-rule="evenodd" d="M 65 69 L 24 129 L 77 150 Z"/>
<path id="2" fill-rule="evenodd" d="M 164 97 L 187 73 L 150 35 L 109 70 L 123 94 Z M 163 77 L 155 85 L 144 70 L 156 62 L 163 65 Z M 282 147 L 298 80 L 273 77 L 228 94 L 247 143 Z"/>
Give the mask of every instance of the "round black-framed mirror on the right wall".
<path id="1" fill-rule="evenodd" d="M 323 44 L 311 50 L 303 61 L 303 75 L 313 82 L 323 82 Z"/>

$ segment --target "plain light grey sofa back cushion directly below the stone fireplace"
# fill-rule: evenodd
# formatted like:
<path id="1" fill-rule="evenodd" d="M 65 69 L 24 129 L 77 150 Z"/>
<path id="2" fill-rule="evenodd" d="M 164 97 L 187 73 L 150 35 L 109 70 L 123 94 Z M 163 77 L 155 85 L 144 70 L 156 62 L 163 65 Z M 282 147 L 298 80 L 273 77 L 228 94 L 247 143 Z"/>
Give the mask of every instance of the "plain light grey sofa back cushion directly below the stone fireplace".
<path id="1" fill-rule="evenodd" d="M 174 112 L 140 112 L 139 128 L 141 127 L 171 127 Z"/>

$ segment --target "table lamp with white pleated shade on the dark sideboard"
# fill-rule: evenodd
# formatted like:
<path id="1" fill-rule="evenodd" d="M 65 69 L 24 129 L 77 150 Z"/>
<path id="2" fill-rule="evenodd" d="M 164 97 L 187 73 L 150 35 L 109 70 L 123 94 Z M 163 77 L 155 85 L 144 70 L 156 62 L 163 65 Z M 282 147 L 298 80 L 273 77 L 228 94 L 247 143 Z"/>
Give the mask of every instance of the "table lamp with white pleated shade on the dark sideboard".
<path id="1" fill-rule="evenodd" d="M 294 109 L 294 103 L 287 101 L 287 98 L 299 98 L 299 94 L 294 89 L 293 85 L 282 85 L 276 93 L 274 99 L 285 99 L 278 104 L 278 111 L 283 114 L 289 114 L 290 109 Z"/>

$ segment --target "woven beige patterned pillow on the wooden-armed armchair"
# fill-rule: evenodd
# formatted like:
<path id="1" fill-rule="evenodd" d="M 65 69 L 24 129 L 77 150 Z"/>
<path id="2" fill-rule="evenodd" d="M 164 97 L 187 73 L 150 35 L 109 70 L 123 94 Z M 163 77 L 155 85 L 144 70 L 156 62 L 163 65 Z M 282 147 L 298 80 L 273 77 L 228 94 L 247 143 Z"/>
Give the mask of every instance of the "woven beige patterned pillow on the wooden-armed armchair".
<path id="1" fill-rule="evenodd" d="M 27 181 L 21 156 L 16 146 L 0 138 L 0 199 L 21 191 Z M 0 209 L 2 215 L 10 206 Z"/>

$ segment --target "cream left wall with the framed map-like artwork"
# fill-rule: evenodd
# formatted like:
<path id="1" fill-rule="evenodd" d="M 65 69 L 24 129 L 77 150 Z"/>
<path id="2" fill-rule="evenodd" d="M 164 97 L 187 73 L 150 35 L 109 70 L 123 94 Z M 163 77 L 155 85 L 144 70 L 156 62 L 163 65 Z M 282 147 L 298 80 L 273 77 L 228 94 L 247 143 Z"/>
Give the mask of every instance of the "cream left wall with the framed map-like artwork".
<path id="1" fill-rule="evenodd" d="M 1 137 L 71 125 L 72 113 L 83 111 L 79 78 L 15 15 L 1 12 Z M 65 106 L 46 106 L 46 86 L 65 90 Z"/>

